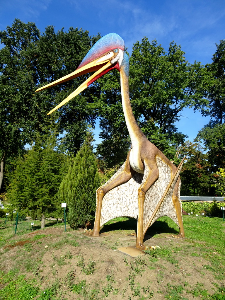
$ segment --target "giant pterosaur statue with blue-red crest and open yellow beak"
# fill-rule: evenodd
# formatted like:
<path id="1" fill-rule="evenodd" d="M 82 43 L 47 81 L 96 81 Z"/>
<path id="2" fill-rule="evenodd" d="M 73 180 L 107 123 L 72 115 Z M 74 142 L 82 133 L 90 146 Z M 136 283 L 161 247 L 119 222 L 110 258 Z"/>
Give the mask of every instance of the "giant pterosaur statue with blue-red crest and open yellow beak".
<path id="1" fill-rule="evenodd" d="M 179 196 L 182 163 L 176 168 L 138 127 L 131 108 L 128 88 L 129 60 L 124 47 L 124 41 L 116 33 L 105 35 L 89 50 L 73 73 L 38 88 L 37 91 L 95 71 L 48 113 L 51 114 L 110 70 L 117 69 L 120 72 L 122 106 L 132 147 L 122 167 L 96 191 L 95 224 L 91 235 L 98 237 L 100 227 L 114 217 L 135 217 L 136 248 L 146 250 L 143 242 L 146 230 L 161 216 L 170 217 L 179 226 L 180 232 L 174 237 L 184 237 Z"/>

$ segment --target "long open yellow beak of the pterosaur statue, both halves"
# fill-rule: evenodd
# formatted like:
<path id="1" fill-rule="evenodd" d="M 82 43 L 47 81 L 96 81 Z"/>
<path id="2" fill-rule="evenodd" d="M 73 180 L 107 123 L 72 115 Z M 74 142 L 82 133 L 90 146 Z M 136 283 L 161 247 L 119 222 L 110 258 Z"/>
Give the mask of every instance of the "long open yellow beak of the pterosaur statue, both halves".
<path id="1" fill-rule="evenodd" d="M 70 94 L 60 104 L 58 104 L 55 108 L 53 108 L 53 110 L 51 110 L 49 113 L 47 113 L 47 115 L 50 115 L 55 110 L 57 110 L 59 107 L 63 106 L 65 103 L 70 101 L 72 98 L 76 97 L 80 92 L 82 92 L 85 88 L 87 88 L 90 83 L 94 82 L 97 79 L 96 77 L 98 75 L 99 75 L 98 76 L 98 78 L 99 78 L 101 76 L 101 73 L 103 73 L 105 70 L 107 70 L 107 69 L 110 70 L 112 68 L 112 64 L 110 62 L 112 60 L 112 58 L 113 58 L 113 52 L 108 52 L 106 55 L 103 55 L 100 58 L 97 58 L 94 61 L 91 61 L 88 64 L 76 69 L 76 71 L 74 71 L 58 80 L 55 80 L 47 85 L 44 85 L 41 88 L 38 88 L 35 92 L 43 91 L 46 88 L 50 88 L 59 83 L 68 81 L 70 79 L 79 77 L 83 74 L 86 74 L 86 73 L 89 73 L 92 71 L 96 71 L 93 75 L 91 75 L 91 77 L 89 77 L 87 80 L 85 80 L 85 82 L 83 82 L 75 91 L 73 91 L 72 94 Z"/>

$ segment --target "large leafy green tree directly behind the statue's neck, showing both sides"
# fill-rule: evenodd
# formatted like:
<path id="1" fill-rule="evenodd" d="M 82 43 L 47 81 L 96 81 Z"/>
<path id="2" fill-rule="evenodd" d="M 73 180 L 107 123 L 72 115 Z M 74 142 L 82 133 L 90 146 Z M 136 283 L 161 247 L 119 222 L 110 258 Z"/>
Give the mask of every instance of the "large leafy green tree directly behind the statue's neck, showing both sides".
<path id="1" fill-rule="evenodd" d="M 116 154 L 110 155 L 107 167 L 124 162 L 130 146 L 122 113 L 119 73 L 116 72 L 99 80 L 100 100 L 104 103 L 101 117 L 106 120 L 100 121 L 104 142 L 98 146 L 97 153 L 102 157 L 107 153 Z M 177 132 L 174 123 L 182 116 L 184 107 L 193 106 L 203 95 L 197 91 L 201 72 L 202 66 L 188 64 L 181 46 L 173 42 L 168 53 L 155 40 L 149 42 L 143 38 L 141 43 L 134 44 L 129 80 L 134 116 L 146 137 L 171 160 L 177 161 L 176 148 L 186 137 Z"/>

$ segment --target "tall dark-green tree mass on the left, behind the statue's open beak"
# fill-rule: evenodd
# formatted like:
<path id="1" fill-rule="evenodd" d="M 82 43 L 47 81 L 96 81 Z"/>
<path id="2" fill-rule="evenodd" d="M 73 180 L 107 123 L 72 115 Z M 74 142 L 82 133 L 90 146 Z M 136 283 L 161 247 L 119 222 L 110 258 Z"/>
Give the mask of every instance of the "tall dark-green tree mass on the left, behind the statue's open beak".
<path id="1" fill-rule="evenodd" d="M 32 143 L 36 131 L 40 137 L 44 134 L 43 127 L 49 120 L 55 122 L 58 133 L 66 132 L 61 143 L 64 152 L 76 153 L 83 143 L 87 122 L 94 123 L 95 112 L 88 106 L 93 102 L 92 89 L 71 100 L 64 110 L 50 117 L 46 114 L 85 76 L 41 93 L 35 90 L 40 83 L 74 71 L 99 35 L 91 38 L 88 31 L 72 27 L 56 33 L 53 26 L 41 34 L 35 23 L 15 19 L 12 26 L 0 32 L 0 38 L 4 44 L 0 49 L 1 184 L 7 164 L 24 153 L 24 145 Z"/>

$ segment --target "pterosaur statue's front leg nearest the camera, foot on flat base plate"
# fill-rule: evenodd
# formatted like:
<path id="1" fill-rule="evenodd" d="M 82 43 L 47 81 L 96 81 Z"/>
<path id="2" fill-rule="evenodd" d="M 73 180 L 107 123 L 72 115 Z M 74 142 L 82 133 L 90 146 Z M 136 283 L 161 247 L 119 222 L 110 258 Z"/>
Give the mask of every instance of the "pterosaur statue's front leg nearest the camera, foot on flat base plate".
<path id="1" fill-rule="evenodd" d="M 144 214 L 144 202 L 147 190 L 155 183 L 159 177 L 159 170 L 155 161 L 145 161 L 145 173 L 141 186 L 138 189 L 138 220 L 137 220 L 137 238 L 136 248 L 140 250 L 146 250 L 148 247 L 143 242 L 143 214 Z"/>

